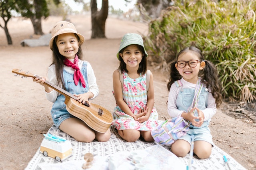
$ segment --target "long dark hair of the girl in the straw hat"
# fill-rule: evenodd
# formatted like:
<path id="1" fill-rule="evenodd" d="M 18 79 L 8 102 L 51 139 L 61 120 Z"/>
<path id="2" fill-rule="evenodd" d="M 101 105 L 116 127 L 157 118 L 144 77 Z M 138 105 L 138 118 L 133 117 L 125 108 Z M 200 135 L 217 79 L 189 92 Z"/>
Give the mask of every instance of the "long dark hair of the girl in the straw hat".
<path id="1" fill-rule="evenodd" d="M 75 33 L 74 35 L 76 36 L 79 43 L 80 42 L 79 36 Z M 58 36 L 56 36 L 52 42 L 52 63 L 50 65 L 55 64 L 55 74 L 57 77 L 58 86 L 62 86 L 62 89 L 66 90 L 63 82 L 63 67 L 64 67 L 65 57 L 61 55 L 59 52 L 58 46 L 56 44 L 57 39 L 58 39 Z M 76 54 L 78 56 L 78 59 L 82 59 L 83 52 L 82 52 L 81 45 L 79 45 L 78 52 Z"/>

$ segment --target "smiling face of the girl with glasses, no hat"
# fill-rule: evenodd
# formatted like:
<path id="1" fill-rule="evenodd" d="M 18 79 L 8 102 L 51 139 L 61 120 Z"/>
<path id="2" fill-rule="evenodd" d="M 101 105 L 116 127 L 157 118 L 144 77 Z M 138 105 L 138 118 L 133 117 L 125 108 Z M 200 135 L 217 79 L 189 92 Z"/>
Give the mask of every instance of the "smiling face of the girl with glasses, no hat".
<path id="1" fill-rule="evenodd" d="M 179 71 L 180 75 L 184 78 L 184 80 L 196 84 L 198 80 L 198 73 L 202 70 L 205 66 L 204 61 L 200 61 L 199 57 L 193 52 L 184 52 L 178 57 L 178 61 L 191 61 L 191 60 L 198 60 L 194 61 L 197 62 L 196 67 L 190 67 L 188 63 L 185 64 L 184 68 L 179 68 L 178 64 L 175 64 L 176 69 Z M 195 64 L 195 63 L 194 63 Z M 184 65 L 183 65 L 184 66 Z"/>

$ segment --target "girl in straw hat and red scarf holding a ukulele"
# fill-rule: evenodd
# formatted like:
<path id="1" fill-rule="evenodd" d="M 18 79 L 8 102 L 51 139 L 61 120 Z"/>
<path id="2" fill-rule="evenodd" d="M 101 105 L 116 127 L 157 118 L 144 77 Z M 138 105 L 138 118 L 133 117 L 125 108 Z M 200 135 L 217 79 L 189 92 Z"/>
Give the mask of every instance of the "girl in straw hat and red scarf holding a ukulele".
<path id="1" fill-rule="evenodd" d="M 52 50 L 52 64 L 48 68 L 47 78 L 53 85 L 74 94 L 77 100 L 88 103 L 99 94 L 96 77 L 92 66 L 82 61 L 81 45 L 84 36 L 76 31 L 70 22 L 57 22 L 52 28 L 49 46 Z M 66 110 L 65 97 L 44 84 L 45 78 L 33 81 L 44 86 L 46 98 L 54 103 L 51 115 L 54 125 L 80 142 L 91 142 L 96 139 L 104 142 L 110 138 L 110 129 L 105 133 L 96 132 L 82 120 L 72 116 Z"/>

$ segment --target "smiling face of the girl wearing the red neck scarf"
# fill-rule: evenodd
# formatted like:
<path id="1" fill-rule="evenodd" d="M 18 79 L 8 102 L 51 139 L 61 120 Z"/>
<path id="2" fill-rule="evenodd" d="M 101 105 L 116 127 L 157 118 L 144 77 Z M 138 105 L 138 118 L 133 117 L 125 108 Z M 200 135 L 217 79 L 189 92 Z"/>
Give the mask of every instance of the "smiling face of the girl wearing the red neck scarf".
<path id="1" fill-rule="evenodd" d="M 58 35 L 56 44 L 60 54 L 67 59 L 74 59 L 80 46 L 74 33 L 64 33 Z"/>

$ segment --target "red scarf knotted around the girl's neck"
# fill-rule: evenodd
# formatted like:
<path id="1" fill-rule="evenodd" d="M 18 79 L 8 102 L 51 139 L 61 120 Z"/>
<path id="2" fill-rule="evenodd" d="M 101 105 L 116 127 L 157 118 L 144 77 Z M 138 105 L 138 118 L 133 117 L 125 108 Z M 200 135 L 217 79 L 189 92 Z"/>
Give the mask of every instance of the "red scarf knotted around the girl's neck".
<path id="1" fill-rule="evenodd" d="M 75 85 L 78 85 L 78 81 L 80 79 L 83 87 L 85 88 L 84 76 L 80 72 L 80 68 L 78 66 L 78 56 L 77 55 L 75 56 L 74 63 L 72 63 L 69 59 L 65 58 L 64 59 L 64 65 L 66 65 L 68 67 L 72 67 L 72 69 L 75 69 L 75 73 L 74 73 Z"/>

